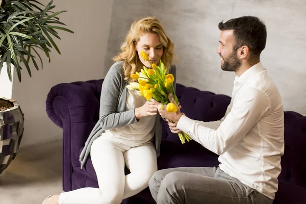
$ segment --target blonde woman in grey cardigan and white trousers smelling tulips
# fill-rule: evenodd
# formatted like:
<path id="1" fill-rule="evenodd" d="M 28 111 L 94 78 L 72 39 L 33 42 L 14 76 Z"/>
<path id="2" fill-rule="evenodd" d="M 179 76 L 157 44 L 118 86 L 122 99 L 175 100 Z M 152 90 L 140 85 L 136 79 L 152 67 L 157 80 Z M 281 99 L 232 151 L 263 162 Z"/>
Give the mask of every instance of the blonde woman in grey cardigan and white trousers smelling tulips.
<path id="1" fill-rule="evenodd" d="M 132 23 L 116 62 L 108 71 L 101 91 L 100 118 L 81 153 L 81 168 L 91 155 L 99 188 L 82 188 L 47 197 L 51 203 L 121 203 L 146 187 L 157 171 L 162 126 L 154 100 L 128 90 L 130 75 L 150 63 L 164 63 L 175 77 L 174 45 L 160 21 L 153 17 Z M 140 52 L 149 56 L 145 61 Z M 175 87 L 175 82 L 174 82 Z M 124 174 L 124 167 L 130 174 Z"/>

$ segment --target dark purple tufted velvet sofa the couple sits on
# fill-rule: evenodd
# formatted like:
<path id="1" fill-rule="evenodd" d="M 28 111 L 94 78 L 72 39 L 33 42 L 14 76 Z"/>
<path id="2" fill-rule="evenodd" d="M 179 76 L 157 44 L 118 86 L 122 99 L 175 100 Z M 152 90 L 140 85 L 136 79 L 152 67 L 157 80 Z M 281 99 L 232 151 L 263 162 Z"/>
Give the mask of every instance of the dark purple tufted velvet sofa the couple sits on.
<path id="1" fill-rule="evenodd" d="M 79 155 L 93 126 L 98 120 L 99 98 L 103 80 L 63 83 L 54 86 L 47 95 L 46 112 L 63 129 L 63 190 L 83 187 L 98 188 L 90 157 L 80 169 Z M 221 119 L 231 97 L 176 85 L 176 95 L 182 112 L 202 121 Z M 191 141 L 181 144 L 163 121 L 161 154 L 158 168 L 218 166 L 218 156 Z M 127 171 L 128 172 L 128 171 Z M 278 177 L 278 192 L 273 203 L 306 203 L 306 117 L 285 112 L 285 155 Z M 149 189 L 123 200 L 125 204 L 155 203 Z"/>

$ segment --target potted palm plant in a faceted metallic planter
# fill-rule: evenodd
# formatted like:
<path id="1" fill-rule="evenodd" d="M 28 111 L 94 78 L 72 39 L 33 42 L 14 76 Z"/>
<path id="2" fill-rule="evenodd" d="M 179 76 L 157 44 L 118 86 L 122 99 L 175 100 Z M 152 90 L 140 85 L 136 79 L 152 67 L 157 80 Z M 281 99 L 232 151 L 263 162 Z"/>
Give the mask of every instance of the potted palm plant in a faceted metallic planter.
<path id="1" fill-rule="evenodd" d="M 61 39 L 57 31 L 73 32 L 66 29 L 58 17 L 66 11 L 54 12 L 54 8 L 53 1 L 44 6 L 36 0 L 0 0 L 0 73 L 5 64 L 10 81 L 13 69 L 19 82 L 22 68 L 27 69 L 30 77 L 31 66 L 42 69 L 40 54 L 43 53 L 49 62 L 53 48 L 61 54 L 53 40 L 54 37 Z M 16 101 L 0 98 L 0 174 L 18 152 L 23 121 Z"/>

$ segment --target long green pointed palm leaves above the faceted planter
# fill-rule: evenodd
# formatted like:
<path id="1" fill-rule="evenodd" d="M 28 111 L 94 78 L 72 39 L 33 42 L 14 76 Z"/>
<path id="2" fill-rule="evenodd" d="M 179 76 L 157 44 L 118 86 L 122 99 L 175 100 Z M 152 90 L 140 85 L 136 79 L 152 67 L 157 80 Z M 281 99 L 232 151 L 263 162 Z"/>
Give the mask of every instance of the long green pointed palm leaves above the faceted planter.
<path id="1" fill-rule="evenodd" d="M 46 6 L 36 0 L 0 0 L 0 71 L 6 62 L 10 80 L 11 64 L 16 69 L 19 82 L 21 82 L 22 64 L 30 77 L 32 75 L 30 60 L 39 70 L 37 65 L 39 59 L 42 69 L 42 58 L 37 49 L 43 51 L 49 62 L 49 53 L 53 48 L 61 54 L 53 37 L 61 39 L 58 30 L 69 33 L 73 31 L 64 28 L 66 24 L 58 17 L 67 11 L 53 11 L 54 8 L 53 0 Z"/>

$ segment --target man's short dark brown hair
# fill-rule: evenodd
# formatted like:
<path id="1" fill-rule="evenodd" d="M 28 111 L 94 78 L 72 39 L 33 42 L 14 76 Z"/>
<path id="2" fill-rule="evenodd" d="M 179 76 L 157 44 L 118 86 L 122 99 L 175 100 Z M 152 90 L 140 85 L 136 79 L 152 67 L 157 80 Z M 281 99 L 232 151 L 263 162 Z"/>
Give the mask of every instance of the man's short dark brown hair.
<path id="1" fill-rule="evenodd" d="M 250 49 L 250 61 L 258 60 L 266 47 L 267 29 L 258 17 L 242 16 L 233 18 L 225 23 L 219 23 L 220 31 L 234 30 L 234 51 L 246 45 Z"/>

